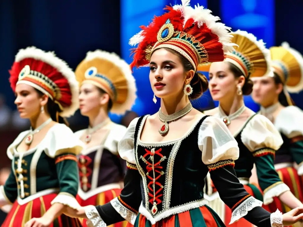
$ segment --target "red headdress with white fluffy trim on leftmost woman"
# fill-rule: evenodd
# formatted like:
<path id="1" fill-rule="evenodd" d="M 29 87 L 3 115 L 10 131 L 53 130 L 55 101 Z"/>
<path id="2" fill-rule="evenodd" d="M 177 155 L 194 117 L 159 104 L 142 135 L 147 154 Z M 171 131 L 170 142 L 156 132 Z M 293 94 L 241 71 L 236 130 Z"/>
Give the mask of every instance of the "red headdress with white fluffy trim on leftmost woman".
<path id="1" fill-rule="evenodd" d="M 36 47 L 21 49 L 9 73 L 14 92 L 17 84 L 28 84 L 40 90 L 59 105 L 61 117 L 69 117 L 78 109 L 79 90 L 75 74 L 54 52 Z"/>

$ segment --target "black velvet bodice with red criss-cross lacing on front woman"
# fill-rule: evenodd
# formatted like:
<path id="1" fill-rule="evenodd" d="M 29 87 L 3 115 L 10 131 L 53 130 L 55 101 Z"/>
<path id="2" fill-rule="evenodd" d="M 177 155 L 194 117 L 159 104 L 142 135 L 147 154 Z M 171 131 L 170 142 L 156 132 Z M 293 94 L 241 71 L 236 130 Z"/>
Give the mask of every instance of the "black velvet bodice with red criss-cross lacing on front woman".
<path id="1" fill-rule="evenodd" d="M 171 142 L 141 143 L 140 130 L 136 130 L 135 156 L 142 176 L 142 204 L 152 215 L 203 199 L 203 179 L 208 167 L 202 162 L 197 135 L 205 118 L 190 133 Z M 143 118 L 140 120 L 136 127 L 140 127 Z"/>

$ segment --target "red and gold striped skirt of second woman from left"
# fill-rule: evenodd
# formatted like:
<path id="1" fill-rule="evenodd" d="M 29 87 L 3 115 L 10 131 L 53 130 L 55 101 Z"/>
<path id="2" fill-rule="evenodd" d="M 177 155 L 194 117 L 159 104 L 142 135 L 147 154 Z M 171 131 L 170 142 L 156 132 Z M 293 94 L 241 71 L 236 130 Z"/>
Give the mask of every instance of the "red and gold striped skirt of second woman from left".
<path id="1" fill-rule="evenodd" d="M 122 189 L 111 189 L 105 192 L 101 192 L 99 194 L 96 194 L 86 200 L 83 200 L 80 198 L 80 196 L 76 196 L 77 201 L 81 206 L 88 206 L 88 205 L 104 205 L 108 202 L 110 202 L 112 199 L 116 198 L 120 195 Z M 82 219 L 82 223 L 84 227 L 87 227 L 86 219 Z M 113 225 L 108 225 L 109 227 L 132 227 L 133 225 L 130 224 L 128 221 L 118 222 Z"/>

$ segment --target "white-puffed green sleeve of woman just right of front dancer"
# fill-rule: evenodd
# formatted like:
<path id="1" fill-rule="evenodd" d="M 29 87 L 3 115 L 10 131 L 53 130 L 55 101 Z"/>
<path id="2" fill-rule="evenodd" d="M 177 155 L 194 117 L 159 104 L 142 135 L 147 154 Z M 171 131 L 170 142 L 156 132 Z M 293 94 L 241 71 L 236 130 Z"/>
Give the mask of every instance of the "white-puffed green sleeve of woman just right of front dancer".
<path id="1" fill-rule="evenodd" d="M 283 140 L 271 121 L 263 115 L 255 115 L 243 129 L 241 140 L 254 157 L 259 186 L 264 192 L 264 204 L 273 202 L 274 197 L 289 191 L 274 167 L 275 151 Z"/>

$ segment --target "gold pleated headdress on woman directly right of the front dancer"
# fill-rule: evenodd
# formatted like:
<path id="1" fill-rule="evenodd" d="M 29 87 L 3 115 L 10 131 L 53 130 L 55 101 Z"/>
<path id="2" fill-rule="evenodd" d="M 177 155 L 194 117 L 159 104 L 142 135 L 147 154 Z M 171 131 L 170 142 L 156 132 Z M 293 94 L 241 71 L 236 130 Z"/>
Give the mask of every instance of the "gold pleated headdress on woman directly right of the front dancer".
<path id="1" fill-rule="evenodd" d="M 235 31 L 231 33 L 231 42 L 238 45 L 231 53 L 226 53 L 225 61 L 237 66 L 243 76 L 261 77 L 270 72 L 270 53 L 263 40 L 247 31 Z M 199 67 L 199 71 L 208 71 L 209 67 Z"/>

